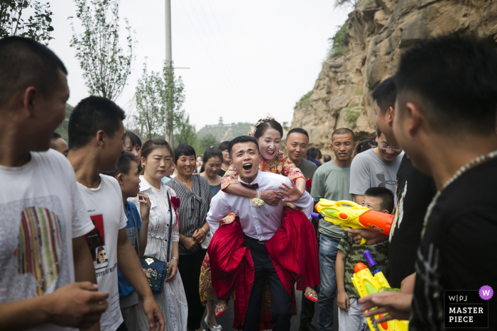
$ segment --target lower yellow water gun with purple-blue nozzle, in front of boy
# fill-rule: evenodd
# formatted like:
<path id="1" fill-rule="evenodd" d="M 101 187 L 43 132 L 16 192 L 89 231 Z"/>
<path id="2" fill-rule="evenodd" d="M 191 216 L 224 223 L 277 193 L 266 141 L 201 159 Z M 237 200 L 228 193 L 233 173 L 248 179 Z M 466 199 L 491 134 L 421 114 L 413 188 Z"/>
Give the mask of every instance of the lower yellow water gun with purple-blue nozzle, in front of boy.
<path id="1" fill-rule="evenodd" d="M 371 256 L 371 252 L 365 250 L 363 254 L 364 257 L 366 257 L 369 267 L 372 268 L 376 266 L 376 261 Z M 354 284 L 354 287 L 361 298 L 372 293 L 381 292 L 383 289 L 386 291 L 390 289 L 390 284 L 388 284 L 388 281 L 385 276 L 383 276 L 383 272 L 381 272 L 380 269 L 376 269 L 373 276 L 368 267 L 362 263 L 357 263 L 354 267 L 354 272 L 354 276 L 351 278 L 352 284 Z M 376 308 L 373 308 L 373 310 L 374 309 Z M 387 322 L 376 323 L 375 320 L 382 318 L 383 315 L 386 314 L 378 314 L 374 315 L 374 318 L 366 318 L 371 331 L 408 331 L 408 320 L 388 320 Z"/>

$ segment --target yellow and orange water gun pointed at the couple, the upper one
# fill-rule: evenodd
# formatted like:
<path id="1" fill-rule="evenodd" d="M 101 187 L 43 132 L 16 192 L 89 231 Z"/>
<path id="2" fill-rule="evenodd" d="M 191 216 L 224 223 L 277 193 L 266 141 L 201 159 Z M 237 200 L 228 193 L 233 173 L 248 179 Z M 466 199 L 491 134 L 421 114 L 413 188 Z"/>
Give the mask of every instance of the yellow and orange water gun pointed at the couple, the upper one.
<path id="1" fill-rule="evenodd" d="M 339 225 L 344 230 L 346 227 L 373 229 L 389 235 L 394 218 L 394 215 L 371 211 L 369 208 L 347 200 L 320 199 L 315 208 L 317 213 L 311 213 L 313 218 L 324 219 L 329 223 Z M 366 239 L 362 238 L 359 245 L 364 245 L 364 243 Z"/>

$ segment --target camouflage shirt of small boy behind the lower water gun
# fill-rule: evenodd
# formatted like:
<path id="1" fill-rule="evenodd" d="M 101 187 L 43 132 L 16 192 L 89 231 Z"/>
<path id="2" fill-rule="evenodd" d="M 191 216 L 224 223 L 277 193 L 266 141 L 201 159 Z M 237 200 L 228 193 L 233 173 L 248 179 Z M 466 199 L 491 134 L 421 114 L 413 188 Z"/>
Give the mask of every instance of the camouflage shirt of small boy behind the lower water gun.
<path id="1" fill-rule="evenodd" d="M 354 267 L 356 263 L 364 263 L 366 266 L 368 263 L 366 262 L 366 258 L 363 255 L 365 250 L 371 252 L 371 256 L 376 261 L 376 266 L 374 269 L 380 269 L 380 271 L 385 274 L 385 260 L 388 257 L 388 242 L 381 242 L 376 245 L 356 245 L 354 240 L 349 236 L 349 232 L 344 231 L 342 235 L 342 239 L 338 244 L 338 249 L 340 249 L 346 255 L 345 258 L 345 293 L 349 298 L 359 299 L 359 293 L 357 293 L 356 288 L 354 288 L 354 284 L 352 284 L 351 278 L 354 276 Z M 370 269 L 371 270 L 371 269 Z M 372 273 L 372 272 L 371 272 Z"/>

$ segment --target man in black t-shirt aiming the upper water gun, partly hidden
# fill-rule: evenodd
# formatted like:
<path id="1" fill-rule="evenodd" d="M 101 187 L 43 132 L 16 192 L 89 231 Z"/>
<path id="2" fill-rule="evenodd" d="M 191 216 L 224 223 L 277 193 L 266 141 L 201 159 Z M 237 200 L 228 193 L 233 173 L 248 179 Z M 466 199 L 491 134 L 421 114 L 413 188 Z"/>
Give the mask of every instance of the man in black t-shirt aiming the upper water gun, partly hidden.
<path id="1" fill-rule="evenodd" d="M 398 146 L 392 129 L 396 95 L 395 77 L 385 79 L 376 86 L 372 94 L 373 100 L 376 101 L 376 125 L 385 135 L 386 140 L 394 146 Z M 415 169 L 410 158 L 405 154 L 397 172 L 395 218 L 390 237 L 374 230 L 350 231 L 359 234 L 355 239 L 357 244 L 361 240 L 361 235 L 371 245 L 388 240 L 387 276 L 393 288 L 400 288 L 402 281 L 415 272 L 416 252 L 421 240 L 423 219 L 436 191 L 433 179 Z M 412 286 L 403 290 L 412 291 Z"/>

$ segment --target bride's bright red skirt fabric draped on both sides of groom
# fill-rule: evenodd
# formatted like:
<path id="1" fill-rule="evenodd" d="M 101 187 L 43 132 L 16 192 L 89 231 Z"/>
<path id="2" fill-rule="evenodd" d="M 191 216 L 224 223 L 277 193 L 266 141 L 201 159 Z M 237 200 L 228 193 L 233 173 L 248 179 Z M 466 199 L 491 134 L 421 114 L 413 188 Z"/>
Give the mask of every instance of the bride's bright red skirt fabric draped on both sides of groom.
<path id="1" fill-rule="evenodd" d="M 243 244 L 244 233 L 236 217 L 233 223 L 219 227 L 207 248 L 216 296 L 227 300 L 236 290 L 233 327 L 237 330 L 241 330 L 245 322 L 254 275 L 250 249 Z M 302 211 L 285 207 L 280 228 L 265 245 L 296 315 L 295 282 L 299 290 L 320 284 L 315 229 Z M 272 324 L 269 309 L 262 309 L 260 330 L 271 330 Z"/>

